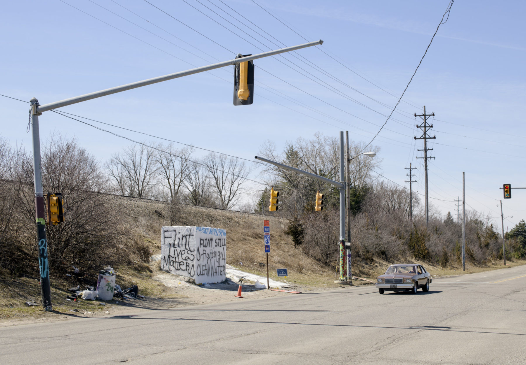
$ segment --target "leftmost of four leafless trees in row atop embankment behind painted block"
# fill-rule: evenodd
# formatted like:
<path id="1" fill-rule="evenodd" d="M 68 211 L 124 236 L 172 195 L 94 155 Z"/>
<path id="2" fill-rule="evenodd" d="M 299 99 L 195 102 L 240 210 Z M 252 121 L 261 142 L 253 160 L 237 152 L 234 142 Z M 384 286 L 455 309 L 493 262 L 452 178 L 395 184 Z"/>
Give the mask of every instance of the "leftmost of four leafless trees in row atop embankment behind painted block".
<path id="1" fill-rule="evenodd" d="M 145 144 L 134 144 L 113 155 L 106 169 L 115 179 L 122 195 L 145 198 L 157 185 L 158 165 L 156 149 Z"/>

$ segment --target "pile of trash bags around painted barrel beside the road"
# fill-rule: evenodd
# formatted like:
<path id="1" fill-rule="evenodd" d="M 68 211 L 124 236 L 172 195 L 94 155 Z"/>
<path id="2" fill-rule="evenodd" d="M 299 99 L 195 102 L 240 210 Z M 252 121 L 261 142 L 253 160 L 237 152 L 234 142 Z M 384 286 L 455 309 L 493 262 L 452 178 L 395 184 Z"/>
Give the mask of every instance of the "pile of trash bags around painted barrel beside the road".
<path id="1" fill-rule="evenodd" d="M 66 299 L 75 302 L 79 298 L 84 300 L 95 300 L 96 298 L 99 300 L 112 300 L 113 298 L 120 298 L 121 300 L 144 299 L 143 295 L 139 295 L 137 285 L 123 290 L 118 284 L 115 284 L 115 271 L 111 266 L 99 271 L 96 288 L 86 286 L 85 289 L 80 289 L 80 285 L 77 285 L 68 288 L 67 291 L 72 294 L 68 295 Z"/>

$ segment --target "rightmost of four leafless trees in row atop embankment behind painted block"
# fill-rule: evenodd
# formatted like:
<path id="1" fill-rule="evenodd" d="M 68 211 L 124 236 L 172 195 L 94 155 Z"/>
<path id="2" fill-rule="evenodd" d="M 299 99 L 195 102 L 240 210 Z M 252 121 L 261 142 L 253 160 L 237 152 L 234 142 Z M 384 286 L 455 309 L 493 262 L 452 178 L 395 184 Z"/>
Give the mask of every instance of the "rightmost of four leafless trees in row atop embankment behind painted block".
<path id="1" fill-rule="evenodd" d="M 236 205 L 250 172 L 245 163 L 234 157 L 210 153 L 203 164 L 210 173 L 211 185 L 221 208 L 228 209 Z"/>

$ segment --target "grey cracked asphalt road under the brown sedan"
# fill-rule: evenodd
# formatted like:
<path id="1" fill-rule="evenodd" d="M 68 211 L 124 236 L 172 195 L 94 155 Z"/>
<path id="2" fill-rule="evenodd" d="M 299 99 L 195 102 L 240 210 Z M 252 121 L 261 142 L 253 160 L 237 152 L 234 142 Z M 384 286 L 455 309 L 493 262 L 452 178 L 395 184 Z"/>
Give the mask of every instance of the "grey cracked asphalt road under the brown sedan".
<path id="1" fill-rule="evenodd" d="M 525 364 L 526 266 L 0 328 L 0 364 Z"/>

